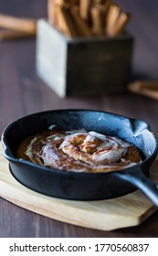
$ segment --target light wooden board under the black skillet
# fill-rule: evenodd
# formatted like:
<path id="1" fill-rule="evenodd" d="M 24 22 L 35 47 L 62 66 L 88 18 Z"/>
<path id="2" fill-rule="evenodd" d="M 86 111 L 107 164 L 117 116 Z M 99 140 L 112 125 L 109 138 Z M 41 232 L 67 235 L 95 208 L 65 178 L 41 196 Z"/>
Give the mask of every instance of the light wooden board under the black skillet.
<path id="1" fill-rule="evenodd" d="M 151 169 L 151 178 L 158 182 L 158 161 Z M 0 196 L 15 205 L 51 219 L 81 227 L 113 230 L 137 226 L 150 217 L 156 208 L 139 190 L 100 201 L 71 201 L 47 197 L 22 186 L 10 174 L 0 144 Z"/>

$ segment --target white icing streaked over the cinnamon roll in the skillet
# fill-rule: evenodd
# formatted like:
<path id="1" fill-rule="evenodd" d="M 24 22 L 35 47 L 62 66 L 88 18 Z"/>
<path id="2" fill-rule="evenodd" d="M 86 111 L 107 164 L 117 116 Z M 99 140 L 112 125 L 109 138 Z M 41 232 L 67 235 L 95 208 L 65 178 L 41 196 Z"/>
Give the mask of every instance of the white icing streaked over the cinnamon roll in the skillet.
<path id="1" fill-rule="evenodd" d="M 31 141 L 26 150 L 26 155 L 30 158 L 32 144 L 36 139 L 37 137 Z M 118 169 L 118 162 L 122 164 L 120 168 L 135 165 L 123 158 L 129 146 L 131 144 L 117 137 L 93 131 L 69 131 L 47 136 L 39 156 L 44 165 L 57 169 L 73 172 L 105 171 Z"/>

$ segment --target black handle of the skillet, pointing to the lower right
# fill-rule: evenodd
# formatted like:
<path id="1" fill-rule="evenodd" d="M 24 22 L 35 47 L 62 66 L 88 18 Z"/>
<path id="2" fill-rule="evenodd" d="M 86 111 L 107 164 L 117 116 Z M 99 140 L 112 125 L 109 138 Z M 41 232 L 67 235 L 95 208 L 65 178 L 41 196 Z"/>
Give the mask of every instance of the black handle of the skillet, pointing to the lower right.
<path id="1" fill-rule="evenodd" d="M 121 180 L 132 184 L 134 187 L 139 188 L 158 208 L 158 184 L 143 175 L 141 169 L 132 169 L 132 171 L 128 173 L 116 173 L 116 176 Z"/>

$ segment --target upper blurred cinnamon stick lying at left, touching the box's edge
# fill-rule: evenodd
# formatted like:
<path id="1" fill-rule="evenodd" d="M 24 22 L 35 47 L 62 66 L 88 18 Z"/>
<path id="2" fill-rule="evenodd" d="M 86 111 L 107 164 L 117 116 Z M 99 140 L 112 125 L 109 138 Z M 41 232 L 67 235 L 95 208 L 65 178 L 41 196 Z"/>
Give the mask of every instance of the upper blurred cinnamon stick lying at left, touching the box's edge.
<path id="1" fill-rule="evenodd" d="M 34 36 L 37 31 L 37 20 L 0 14 L 0 27 L 26 32 Z"/>

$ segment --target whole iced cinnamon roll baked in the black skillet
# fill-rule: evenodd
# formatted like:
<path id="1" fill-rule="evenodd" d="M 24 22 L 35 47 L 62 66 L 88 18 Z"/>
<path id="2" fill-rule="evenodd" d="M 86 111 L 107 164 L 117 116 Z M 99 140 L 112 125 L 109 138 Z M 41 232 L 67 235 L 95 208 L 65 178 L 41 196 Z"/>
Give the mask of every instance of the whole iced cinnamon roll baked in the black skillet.
<path id="1" fill-rule="evenodd" d="M 87 131 L 47 131 L 26 138 L 17 157 L 74 171 L 109 172 L 141 162 L 139 150 L 121 138 Z"/>

